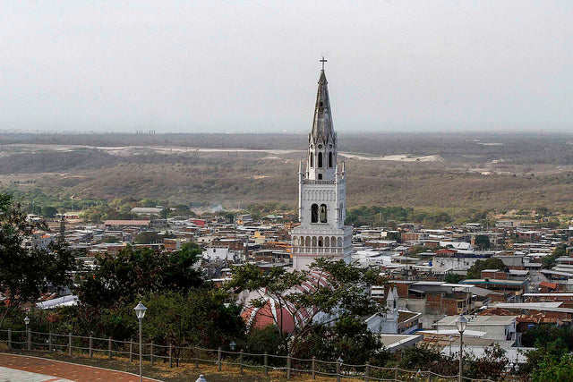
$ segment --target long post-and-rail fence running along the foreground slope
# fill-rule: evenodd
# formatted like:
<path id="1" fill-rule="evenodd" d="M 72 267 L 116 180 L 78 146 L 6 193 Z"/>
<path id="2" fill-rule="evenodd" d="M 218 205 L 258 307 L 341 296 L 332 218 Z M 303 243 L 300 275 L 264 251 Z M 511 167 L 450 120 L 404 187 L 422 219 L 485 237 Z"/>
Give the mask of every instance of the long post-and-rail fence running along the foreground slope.
<path id="1" fill-rule="evenodd" d="M 130 362 L 139 360 L 139 343 L 137 341 L 118 341 L 111 337 L 99 338 L 56 333 L 33 332 L 31 330 L 0 330 L 0 342 L 6 344 L 8 349 L 40 350 L 47 352 L 94 354 L 107 356 L 109 360 L 122 357 Z M 174 346 L 147 343 L 143 344 L 142 357 L 149 361 L 151 366 L 155 362 L 168 363 L 169 367 L 182 364 L 194 364 L 196 369 L 200 364 L 218 366 L 221 371 L 224 365 L 235 366 L 243 373 L 244 369 L 256 369 L 269 374 L 271 370 L 282 371 L 286 378 L 293 375 L 304 374 L 316 377 L 336 378 L 339 382 L 344 379 L 362 379 L 364 381 L 458 381 L 458 375 L 443 376 L 426 370 L 406 370 L 400 368 L 383 368 L 370 365 L 347 364 L 344 361 L 321 361 L 312 359 L 299 359 L 290 354 L 277 355 L 264 353 L 248 353 L 243 351 L 227 351 L 221 348 L 205 349 L 198 346 Z M 463 378 L 465 381 L 493 382 L 491 379 Z"/>

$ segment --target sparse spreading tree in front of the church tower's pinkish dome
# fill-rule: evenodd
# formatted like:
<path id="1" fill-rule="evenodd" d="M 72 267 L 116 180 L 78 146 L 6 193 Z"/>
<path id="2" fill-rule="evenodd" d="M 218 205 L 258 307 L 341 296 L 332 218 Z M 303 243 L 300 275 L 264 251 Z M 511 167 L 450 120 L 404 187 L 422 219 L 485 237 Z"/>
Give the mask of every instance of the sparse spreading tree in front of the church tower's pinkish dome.
<path id="1" fill-rule="evenodd" d="M 310 272 L 321 275 L 321 280 L 311 278 Z M 263 273 L 258 267 L 247 264 L 233 267 L 233 279 L 227 286 L 237 292 L 256 293 L 258 297 L 250 301 L 252 308 L 264 307 L 268 298 L 272 298 L 277 310 L 284 309 L 298 318 L 290 335 L 280 332 L 285 348 L 295 354 L 304 337 L 320 327 L 336 325 L 343 316 L 363 317 L 381 312 L 381 305 L 365 292 L 368 285 L 381 281 L 378 275 L 376 269 L 354 267 L 342 260 L 316 259 L 309 271 L 293 272 L 283 267 L 272 267 Z M 312 288 L 300 293 L 296 286 L 303 283 L 311 284 Z M 320 317 L 323 319 L 315 319 Z M 283 327 L 283 315 L 277 318 L 269 314 L 269 319 L 277 327 Z"/>

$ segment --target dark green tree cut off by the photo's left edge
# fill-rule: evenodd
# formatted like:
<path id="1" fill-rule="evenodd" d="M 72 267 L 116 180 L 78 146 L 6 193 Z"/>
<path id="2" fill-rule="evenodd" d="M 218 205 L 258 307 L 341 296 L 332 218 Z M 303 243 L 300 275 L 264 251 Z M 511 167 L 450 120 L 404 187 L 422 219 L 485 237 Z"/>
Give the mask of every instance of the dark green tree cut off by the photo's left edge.
<path id="1" fill-rule="evenodd" d="M 10 195 L 0 194 L 0 292 L 10 301 L 2 309 L 0 327 L 22 303 L 72 284 L 69 273 L 76 262 L 63 241 L 52 242 L 46 249 L 24 247 L 24 240 L 34 240 L 36 229 L 47 227 L 30 224 L 21 205 Z"/>

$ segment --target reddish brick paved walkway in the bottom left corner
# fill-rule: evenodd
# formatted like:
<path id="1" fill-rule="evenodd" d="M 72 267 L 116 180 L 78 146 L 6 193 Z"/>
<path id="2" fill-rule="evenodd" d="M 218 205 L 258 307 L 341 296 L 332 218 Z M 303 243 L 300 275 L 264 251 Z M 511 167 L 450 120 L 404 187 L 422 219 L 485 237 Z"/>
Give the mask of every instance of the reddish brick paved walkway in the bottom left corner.
<path id="1" fill-rule="evenodd" d="M 135 376 L 124 371 L 100 369 L 94 366 L 7 353 L 0 353 L 0 367 L 29 371 L 31 373 L 37 373 L 43 375 L 43 377 L 47 377 L 44 379 L 36 379 L 38 381 L 61 381 L 62 378 L 74 381 L 139 381 L 139 376 Z M 19 380 L 16 378 L 17 374 L 17 372 L 14 372 L 13 379 L 6 379 L 4 376 L 0 377 L 0 381 Z M 143 380 L 146 382 L 152 382 L 155 379 L 143 378 Z"/>

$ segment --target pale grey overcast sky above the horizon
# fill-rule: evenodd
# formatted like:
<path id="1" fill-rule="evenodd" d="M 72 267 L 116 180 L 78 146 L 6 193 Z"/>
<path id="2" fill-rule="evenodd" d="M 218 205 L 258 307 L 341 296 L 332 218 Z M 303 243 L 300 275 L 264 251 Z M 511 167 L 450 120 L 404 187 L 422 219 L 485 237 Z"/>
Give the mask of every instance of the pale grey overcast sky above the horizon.
<path id="1" fill-rule="evenodd" d="M 0 2 L 0 130 L 569 131 L 569 1 Z"/>

